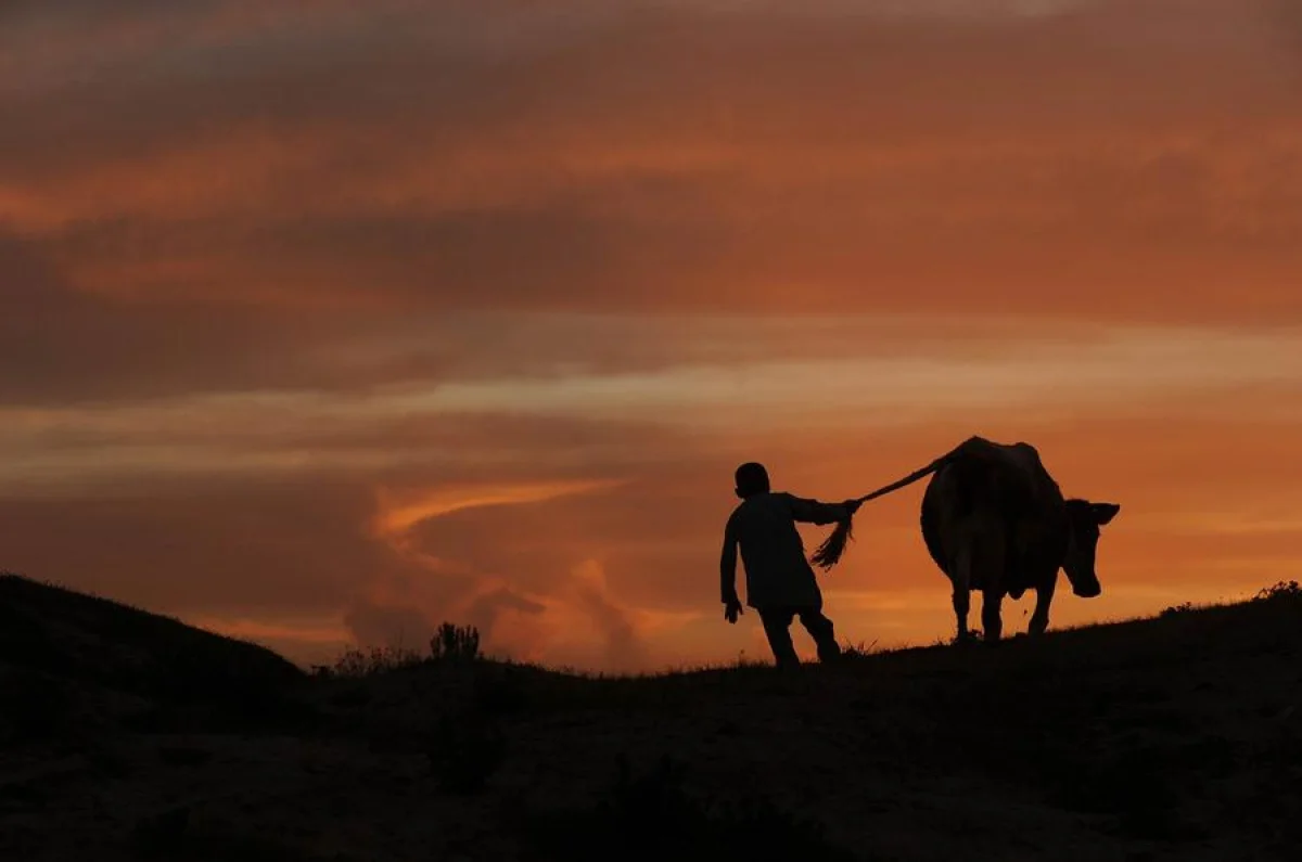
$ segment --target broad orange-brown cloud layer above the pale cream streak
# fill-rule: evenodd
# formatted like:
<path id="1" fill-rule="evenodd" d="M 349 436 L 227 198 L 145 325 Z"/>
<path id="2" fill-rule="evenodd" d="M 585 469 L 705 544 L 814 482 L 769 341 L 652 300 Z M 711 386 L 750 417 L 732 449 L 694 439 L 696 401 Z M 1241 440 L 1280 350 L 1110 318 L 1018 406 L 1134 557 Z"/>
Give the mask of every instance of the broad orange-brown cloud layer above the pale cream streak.
<path id="1" fill-rule="evenodd" d="M 201 60 L 0 100 L 0 206 L 151 301 L 1295 318 L 1273 7 L 897 7 L 198 4 Z"/>

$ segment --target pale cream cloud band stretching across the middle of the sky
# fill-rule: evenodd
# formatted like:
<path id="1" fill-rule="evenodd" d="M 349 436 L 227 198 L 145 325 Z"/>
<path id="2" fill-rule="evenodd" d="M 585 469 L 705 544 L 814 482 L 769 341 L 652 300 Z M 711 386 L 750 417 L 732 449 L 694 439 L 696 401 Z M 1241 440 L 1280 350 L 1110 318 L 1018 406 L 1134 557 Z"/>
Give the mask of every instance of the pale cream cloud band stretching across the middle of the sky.
<path id="1" fill-rule="evenodd" d="M 342 340 L 329 355 L 301 353 L 302 367 L 315 365 L 315 388 L 0 409 L 0 440 L 26 456 L 0 475 L 113 475 L 147 469 L 142 458 L 180 473 L 385 470 L 456 461 L 467 438 L 487 447 L 526 434 L 548 457 L 581 445 L 602 458 L 673 428 L 835 427 L 852 418 L 867 427 L 1023 405 L 1139 410 L 1195 392 L 1285 393 L 1299 366 L 1289 324 L 529 315 L 501 324 L 501 340 L 488 342 L 474 324 L 441 371 L 424 345 L 454 324 Z M 95 367 L 103 359 L 86 363 Z M 410 379 L 397 368 L 411 370 Z M 35 385 L 42 376 L 33 375 Z M 284 383 L 273 370 L 260 379 Z M 1286 398 L 1258 409 L 1290 410 Z M 483 457 L 506 457 L 508 448 L 486 448 Z M 164 449 L 168 457 L 158 458 Z"/>

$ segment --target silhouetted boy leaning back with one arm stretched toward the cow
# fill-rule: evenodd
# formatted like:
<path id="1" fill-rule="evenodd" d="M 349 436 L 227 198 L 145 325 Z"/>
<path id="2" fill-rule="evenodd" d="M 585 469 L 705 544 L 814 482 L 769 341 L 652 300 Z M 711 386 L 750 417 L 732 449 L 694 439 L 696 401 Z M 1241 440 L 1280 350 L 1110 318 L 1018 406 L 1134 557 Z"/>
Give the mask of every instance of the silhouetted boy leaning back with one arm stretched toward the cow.
<path id="1" fill-rule="evenodd" d="M 796 530 L 796 522 L 835 523 L 854 514 L 859 504 L 854 500 L 841 504 L 819 503 L 773 492 L 769 490 L 764 465 L 754 462 L 737 467 L 737 496 L 742 501 L 724 529 L 720 563 L 724 619 L 737 622 L 737 615 L 742 613 L 741 600 L 737 598 L 740 544 L 746 566 L 746 604 L 759 612 L 777 665 L 799 664 L 790 633 L 792 619 L 796 616 L 799 616 L 801 625 L 814 637 L 819 660 L 836 659 L 841 655 L 841 647 L 832 633 L 832 621 L 823 616 L 823 592 L 818 589 L 814 569 L 805 559 L 805 543 Z"/>

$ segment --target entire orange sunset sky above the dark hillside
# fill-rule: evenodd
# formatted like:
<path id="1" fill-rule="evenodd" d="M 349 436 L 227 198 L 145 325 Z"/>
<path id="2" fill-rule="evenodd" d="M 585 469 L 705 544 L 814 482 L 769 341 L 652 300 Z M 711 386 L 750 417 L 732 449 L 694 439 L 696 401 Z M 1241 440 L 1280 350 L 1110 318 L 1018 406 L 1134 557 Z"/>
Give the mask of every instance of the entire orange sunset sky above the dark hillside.
<path id="1" fill-rule="evenodd" d="M 9 0 L 0 569 L 305 664 L 767 660 L 733 469 L 979 434 L 1122 507 L 1053 625 L 1238 598 L 1302 574 L 1299 273 L 1294 0 Z M 922 490 L 842 641 L 952 634 Z"/>

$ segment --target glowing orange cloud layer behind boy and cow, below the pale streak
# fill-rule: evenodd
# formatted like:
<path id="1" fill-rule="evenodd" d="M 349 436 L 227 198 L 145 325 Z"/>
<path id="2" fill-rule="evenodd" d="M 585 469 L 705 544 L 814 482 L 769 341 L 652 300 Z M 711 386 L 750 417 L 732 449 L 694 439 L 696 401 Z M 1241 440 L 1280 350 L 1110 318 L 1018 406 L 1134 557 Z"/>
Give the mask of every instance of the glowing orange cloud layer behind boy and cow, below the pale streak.
<path id="1" fill-rule="evenodd" d="M 275 641 L 303 660 L 331 658 L 336 646 L 323 632 L 363 643 L 401 637 L 419 648 L 418 634 L 444 620 L 478 625 L 495 654 L 557 664 L 646 669 L 724 660 L 747 632 L 706 625 L 717 622 L 717 552 L 736 464 L 759 457 L 780 487 L 837 500 L 980 432 L 1032 441 L 1066 492 L 1122 504 L 1100 549 L 1105 595 L 1090 605 L 1064 603 L 1062 619 L 1122 616 L 1160 609 L 1139 589 L 1161 586 L 1167 604 L 1169 595 L 1250 591 L 1288 564 L 1302 522 L 1290 491 L 1302 482 L 1290 467 L 1299 418 L 1260 419 L 1243 398 L 1172 401 L 1130 417 L 1104 409 L 953 415 L 871 432 L 848 423 L 717 439 L 652 435 L 650 451 L 634 447 L 589 464 L 587 479 L 561 471 L 535 479 L 535 487 L 568 488 L 618 475 L 617 487 L 436 507 L 411 522 L 401 546 L 371 529 L 385 510 L 376 488 L 456 500 L 467 487 L 462 474 L 409 466 L 381 484 L 370 471 L 306 471 L 122 484 L 112 496 L 10 491 L 0 501 L 4 565 Z M 470 430 L 457 445 L 462 458 L 478 457 L 471 440 L 479 434 Z M 518 461 L 479 467 L 480 480 L 496 473 L 501 487 L 513 487 L 529 474 L 519 465 L 543 449 L 531 440 L 533 426 L 516 434 L 484 440 L 517 449 Z M 943 578 L 917 531 L 919 494 L 902 491 L 865 509 L 850 553 L 824 577 L 844 637 L 893 632 L 926 641 L 948 630 Z M 824 534 L 803 533 L 807 547 Z M 842 594 L 861 598 L 842 602 Z M 892 609 L 892 602 L 904 605 Z"/>

